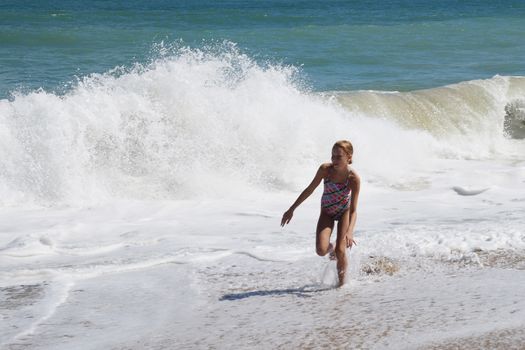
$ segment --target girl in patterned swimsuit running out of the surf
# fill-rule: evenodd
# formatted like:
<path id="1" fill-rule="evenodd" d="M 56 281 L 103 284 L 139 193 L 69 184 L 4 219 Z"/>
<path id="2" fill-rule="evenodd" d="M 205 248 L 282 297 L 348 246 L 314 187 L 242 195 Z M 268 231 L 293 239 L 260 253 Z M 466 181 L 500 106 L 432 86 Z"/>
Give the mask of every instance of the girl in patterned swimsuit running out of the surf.
<path id="1" fill-rule="evenodd" d="M 312 182 L 299 195 L 281 220 L 281 226 L 290 222 L 294 210 L 308 198 L 324 180 L 324 192 L 321 197 L 321 213 L 317 222 L 316 250 L 320 256 L 334 251 L 330 236 L 337 221 L 337 241 L 335 257 L 339 287 L 344 284 L 348 265 L 346 248 L 351 248 L 354 241 L 354 226 L 357 218 L 356 208 L 359 197 L 360 179 L 349 167 L 352 164 L 354 150 L 349 141 L 338 141 L 332 147 L 332 163 L 321 164 Z"/>

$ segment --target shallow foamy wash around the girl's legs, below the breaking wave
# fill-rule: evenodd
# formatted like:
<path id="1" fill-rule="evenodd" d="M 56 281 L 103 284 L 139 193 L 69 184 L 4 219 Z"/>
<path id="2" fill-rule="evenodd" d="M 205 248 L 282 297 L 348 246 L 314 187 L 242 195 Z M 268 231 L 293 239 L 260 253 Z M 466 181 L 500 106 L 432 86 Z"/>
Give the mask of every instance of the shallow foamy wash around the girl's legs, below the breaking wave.
<path id="1" fill-rule="evenodd" d="M 415 348 L 523 327 L 521 207 L 502 212 L 490 191 L 370 192 L 341 289 L 335 263 L 314 253 L 314 200 L 285 229 L 289 195 L 12 209 L 2 344 Z M 206 220 L 191 219 L 195 208 Z"/>

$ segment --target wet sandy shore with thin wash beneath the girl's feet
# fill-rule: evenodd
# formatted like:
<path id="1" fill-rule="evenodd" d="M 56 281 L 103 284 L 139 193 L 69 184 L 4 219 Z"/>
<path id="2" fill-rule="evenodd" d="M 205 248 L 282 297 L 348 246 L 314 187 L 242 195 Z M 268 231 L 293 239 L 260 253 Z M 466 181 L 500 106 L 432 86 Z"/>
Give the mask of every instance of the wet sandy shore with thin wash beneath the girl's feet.
<path id="1" fill-rule="evenodd" d="M 334 288 L 334 263 L 314 256 L 160 263 L 74 282 L 51 318 L 4 348 L 520 348 L 523 270 L 434 264 L 354 270 Z"/>

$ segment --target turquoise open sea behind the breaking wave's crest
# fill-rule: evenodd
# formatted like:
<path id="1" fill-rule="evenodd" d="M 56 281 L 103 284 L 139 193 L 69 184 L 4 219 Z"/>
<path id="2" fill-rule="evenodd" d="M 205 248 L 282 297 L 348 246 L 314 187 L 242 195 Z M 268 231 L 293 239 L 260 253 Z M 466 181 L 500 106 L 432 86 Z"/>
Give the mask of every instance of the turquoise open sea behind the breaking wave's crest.
<path id="1" fill-rule="evenodd" d="M 156 47 L 224 40 L 293 65 L 316 91 L 409 91 L 525 75 L 524 1 L 19 1 L 0 3 L 0 98 L 63 92 Z"/>

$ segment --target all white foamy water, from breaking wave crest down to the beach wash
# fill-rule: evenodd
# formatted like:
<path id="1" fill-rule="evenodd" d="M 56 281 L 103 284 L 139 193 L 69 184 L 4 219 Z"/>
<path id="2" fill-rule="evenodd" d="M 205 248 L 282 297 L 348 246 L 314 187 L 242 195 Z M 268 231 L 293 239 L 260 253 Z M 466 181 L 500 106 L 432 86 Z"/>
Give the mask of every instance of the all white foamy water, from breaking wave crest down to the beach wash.
<path id="1" fill-rule="evenodd" d="M 319 94 L 227 43 L 1 100 L 0 344 L 294 348 L 364 320 L 360 346 L 417 347 L 522 327 L 525 143 L 504 120 L 524 91 L 496 76 Z M 279 222 L 342 138 L 363 184 L 335 290 L 319 193 Z"/>

